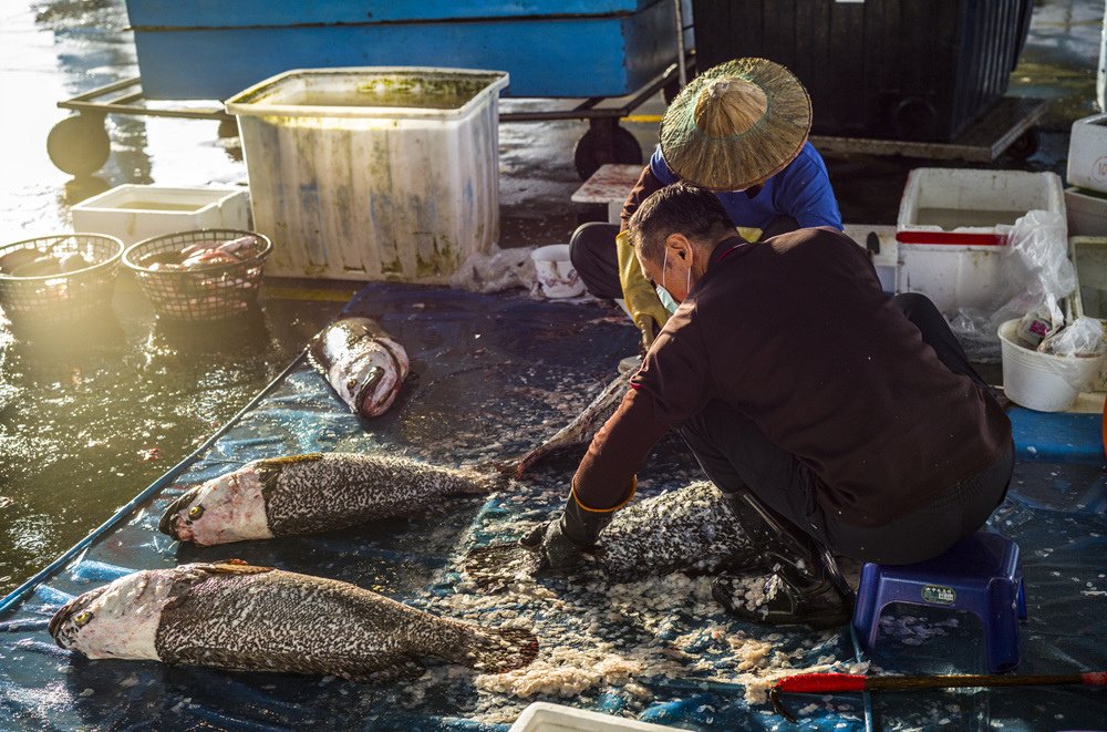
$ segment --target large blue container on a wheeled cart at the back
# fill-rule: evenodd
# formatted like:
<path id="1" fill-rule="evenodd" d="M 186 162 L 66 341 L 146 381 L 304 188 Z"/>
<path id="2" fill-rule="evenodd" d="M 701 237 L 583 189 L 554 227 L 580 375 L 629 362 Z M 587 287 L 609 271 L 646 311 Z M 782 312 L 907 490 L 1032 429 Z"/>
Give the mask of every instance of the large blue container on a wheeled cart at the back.
<path id="1" fill-rule="evenodd" d="M 127 0 L 147 99 L 226 99 L 290 69 L 507 71 L 511 96 L 621 96 L 676 59 L 671 0 Z"/>

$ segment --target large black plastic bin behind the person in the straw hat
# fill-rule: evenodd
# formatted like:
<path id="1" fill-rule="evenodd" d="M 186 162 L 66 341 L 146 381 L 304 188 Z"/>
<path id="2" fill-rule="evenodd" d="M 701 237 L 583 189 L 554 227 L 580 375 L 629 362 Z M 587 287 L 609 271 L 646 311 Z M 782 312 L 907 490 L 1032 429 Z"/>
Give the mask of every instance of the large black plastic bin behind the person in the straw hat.
<path id="1" fill-rule="evenodd" d="M 949 142 L 1003 96 L 1033 0 L 693 0 L 700 69 L 738 56 L 807 86 L 811 132 Z"/>

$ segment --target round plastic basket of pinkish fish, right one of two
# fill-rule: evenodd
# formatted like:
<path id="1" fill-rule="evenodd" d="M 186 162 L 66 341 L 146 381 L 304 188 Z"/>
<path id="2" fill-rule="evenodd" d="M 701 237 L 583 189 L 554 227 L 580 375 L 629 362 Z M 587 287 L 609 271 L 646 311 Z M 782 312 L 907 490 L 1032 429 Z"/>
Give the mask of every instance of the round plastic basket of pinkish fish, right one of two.
<path id="1" fill-rule="evenodd" d="M 195 244 L 254 237 L 254 251 L 241 261 L 195 269 L 152 269 L 143 261 L 154 255 L 179 252 Z M 135 274 L 157 315 L 174 320 L 218 320 L 248 311 L 258 300 L 261 270 L 272 243 L 257 231 L 200 229 L 143 239 L 123 252 L 123 264 Z"/>

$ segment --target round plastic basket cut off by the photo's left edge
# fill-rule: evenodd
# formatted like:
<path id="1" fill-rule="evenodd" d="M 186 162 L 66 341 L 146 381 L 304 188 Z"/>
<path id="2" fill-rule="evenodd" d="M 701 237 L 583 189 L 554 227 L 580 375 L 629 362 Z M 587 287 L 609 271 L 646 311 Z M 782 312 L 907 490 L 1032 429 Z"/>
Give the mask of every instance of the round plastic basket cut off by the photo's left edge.
<path id="1" fill-rule="evenodd" d="M 103 234 L 40 236 L 0 246 L 0 258 L 21 249 L 81 255 L 89 267 L 55 275 L 0 271 L 0 306 L 14 326 L 75 322 L 111 306 L 124 245 Z"/>

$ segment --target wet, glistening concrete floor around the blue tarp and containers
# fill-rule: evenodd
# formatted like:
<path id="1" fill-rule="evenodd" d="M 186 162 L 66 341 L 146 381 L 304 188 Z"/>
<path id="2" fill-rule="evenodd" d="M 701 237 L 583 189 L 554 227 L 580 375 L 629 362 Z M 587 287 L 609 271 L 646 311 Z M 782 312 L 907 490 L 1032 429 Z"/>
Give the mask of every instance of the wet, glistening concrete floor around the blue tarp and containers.
<path id="1" fill-rule="evenodd" d="M 1064 175 L 1068 126 L 1096 111 L 1103 3 L 1037 3 L 1011 93 L 1053 100 L 1036 154 L 989 167 Z M 138 75 L 123 0 L 0 4 L 0 224 L 3 241 L 69 230 L 69 207 L 123 183 L 245 185 L 236 140 L 210 121 L 113 115 L 112 154 L 93 178 L 72 181 L 45 154 L 61 100 Z M 505 109 L 549 102 L 505 101 Z M 660 99 L 623 125 L 649 155 Z M 501 246 L 567 241 L 582 216 L 572 148 L 580 122 L 500 125 Z M 827 156 L 848 223 L 894 223 L 908 172 L 958 163 Z M 602 214 L 601 214 L 602 215 Z M 103 522 L 230 417 L 334 317 L 350 283 L 270 282 L 265 313 L 178 332 L 155 322 L 122 279 L 115 318 L 79 333 L 28 339 L 0 330 L 0 595 Z"/>

